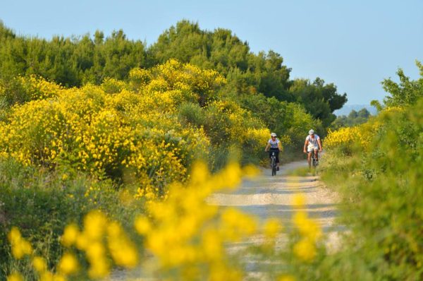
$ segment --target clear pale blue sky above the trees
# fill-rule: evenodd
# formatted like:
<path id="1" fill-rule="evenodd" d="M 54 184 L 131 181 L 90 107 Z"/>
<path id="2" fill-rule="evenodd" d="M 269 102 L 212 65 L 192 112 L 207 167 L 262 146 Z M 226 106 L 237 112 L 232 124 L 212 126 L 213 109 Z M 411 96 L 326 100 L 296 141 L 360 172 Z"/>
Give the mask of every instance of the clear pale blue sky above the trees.
<path id="1" fill-rule="evenodd" d="M 319 77 L 346 92 L 347 104 L 382 100 L 384 78 L 403 68 L 417 79 L 423 61 L 423 0 L 0 0 L 0 20 L 18 35 L 110 35 L 153 44 L 178 20 L 226 28 L 252 52 L 274 50 L 291 78 Z"/>

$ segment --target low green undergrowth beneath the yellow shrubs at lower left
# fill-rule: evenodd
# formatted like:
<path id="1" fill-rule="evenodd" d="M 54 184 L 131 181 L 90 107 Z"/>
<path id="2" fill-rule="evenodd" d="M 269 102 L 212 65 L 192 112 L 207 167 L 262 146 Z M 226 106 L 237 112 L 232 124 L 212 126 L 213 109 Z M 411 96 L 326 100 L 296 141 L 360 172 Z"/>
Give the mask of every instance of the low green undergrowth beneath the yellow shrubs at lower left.
<path id="1" fill-rule="evenodd" d="M 130 223 L 142 211 L 142 201 L 123 201 L 127 193 L 118 191 L 111 181 L 97 181 L 85 174 L 71 179 L 63 171 L 48 172 L 12 159 L 1 160 L 0 279 L 12 269 L 25 271 L 20 268 L 23 264 L 13 263 L 10 255 L 6 234 L 11 227 L 19 227 L 37 253 L 47 257 L 50 266 L 55 265 L 63 252 L 59 239 L 63 228 L 71 222 L 80 225 L 93 208 L 132 228 Z"/>

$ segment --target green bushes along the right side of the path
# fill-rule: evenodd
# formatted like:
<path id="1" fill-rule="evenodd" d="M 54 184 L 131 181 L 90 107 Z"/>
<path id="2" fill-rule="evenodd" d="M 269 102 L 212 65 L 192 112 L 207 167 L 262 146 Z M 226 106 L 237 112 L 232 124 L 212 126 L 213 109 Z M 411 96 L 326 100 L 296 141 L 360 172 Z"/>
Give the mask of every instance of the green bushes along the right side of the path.
<path id="1" fill-rule="evenodd" d="M 334 273 L 324 279 L 345 273 L 355 280 L 423 278 L 423 98 L 417 100 L 423 79 L 410 80 L 402 71 L 398 76 L 399 85 L 384 81 L 391 94 L 387 107 L 354 128 L 361 137 L 350 140 L 352 156 L 339 153 L 341 142 L 335 140 L 341 136 L 331 133 L 334 145 L 321 168 L 325 181 L 343 196 L 343 221 L 351 232 L 343 249 L 319 265 Z M 360 117 L 350 114 L 355 116 Z"/>

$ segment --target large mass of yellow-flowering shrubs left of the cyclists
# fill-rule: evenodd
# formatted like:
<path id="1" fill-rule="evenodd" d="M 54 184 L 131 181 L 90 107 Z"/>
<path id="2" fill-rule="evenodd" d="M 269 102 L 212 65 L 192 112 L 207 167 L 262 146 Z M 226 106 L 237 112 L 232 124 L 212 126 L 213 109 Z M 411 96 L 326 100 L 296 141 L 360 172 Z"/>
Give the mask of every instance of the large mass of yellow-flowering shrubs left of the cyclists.
<path id="1" fill-rule="evenodd" d="M 21 79 L 32 98 L 0 122 L 1 156 L 130 178 L 148 198 L 165 196 L 166 185 L 185 180 L 192 160 L 207 157 L 211 142 L 257 149 L 269 134 L 238 104 L 219 100 L 215 89 L 225 83 L 219 73 L 175 60 L 135 68 L 128 83 L 106 78 L 99 86 L 66 89 L 35 76 Z M 183 102 L 204 107 L 208 125 L 182 124 Z"/>

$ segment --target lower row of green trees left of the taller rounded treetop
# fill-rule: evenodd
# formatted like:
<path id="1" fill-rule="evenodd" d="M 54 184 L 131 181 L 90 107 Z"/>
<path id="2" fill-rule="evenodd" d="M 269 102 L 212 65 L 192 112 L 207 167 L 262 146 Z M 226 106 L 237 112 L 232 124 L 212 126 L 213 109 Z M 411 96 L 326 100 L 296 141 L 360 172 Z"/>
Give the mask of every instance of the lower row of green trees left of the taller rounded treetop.
<path id="1" fill-rule="evenodd" d="M 0 23 L 0 78 L 35 74 L 68 87 L 101 83 L 106 77 L 128 78 L 131 68 L 145 65 L 145 44 L 128 40 L 122 30 L 104 39 L 90 35 L 50 41 L 18 37 Z"/>

